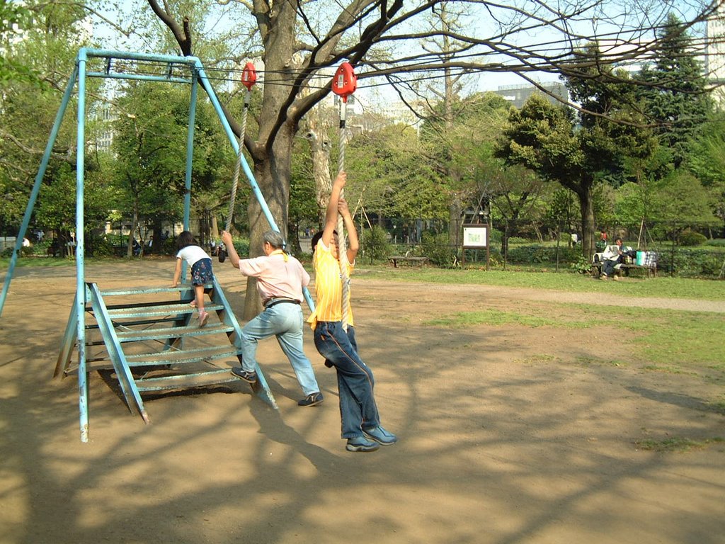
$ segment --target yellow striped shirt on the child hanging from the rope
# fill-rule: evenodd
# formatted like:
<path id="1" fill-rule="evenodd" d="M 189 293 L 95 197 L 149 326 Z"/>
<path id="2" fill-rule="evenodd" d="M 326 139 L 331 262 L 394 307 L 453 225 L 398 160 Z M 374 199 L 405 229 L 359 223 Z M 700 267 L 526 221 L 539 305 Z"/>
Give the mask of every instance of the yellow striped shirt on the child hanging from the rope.
<path id="1" fill-rule="evenodd" d="M 342 321 L 342 280 L 340 261 L 332 256 L 329 247 L 320 240 L 315 247 L 312 259 L 315 267 L 315 311 L 307 318 L 312 330 L 318 321 Z M 347 277 L 350 277 L 353 266 L 347 265 Z M 355 326 L 352 321 L 352 308 L 349 309 L 347 324 Z"/>

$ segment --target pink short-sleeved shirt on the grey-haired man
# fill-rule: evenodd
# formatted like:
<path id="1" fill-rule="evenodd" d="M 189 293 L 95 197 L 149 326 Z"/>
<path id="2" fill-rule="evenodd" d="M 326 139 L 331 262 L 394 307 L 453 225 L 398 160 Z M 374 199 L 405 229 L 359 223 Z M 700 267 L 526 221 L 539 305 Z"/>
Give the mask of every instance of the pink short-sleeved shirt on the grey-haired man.
<path id="1" fill-rule="evenodd" d="M 310 274 L 299 260 L 282 250 L 273 251 L 269 256 L 241 259 L 239 270 L 244 276 L 257 278 L 257 291 L 262 302 L 272 297 L 305 300 L 302 287 L 310 283 Z"/>

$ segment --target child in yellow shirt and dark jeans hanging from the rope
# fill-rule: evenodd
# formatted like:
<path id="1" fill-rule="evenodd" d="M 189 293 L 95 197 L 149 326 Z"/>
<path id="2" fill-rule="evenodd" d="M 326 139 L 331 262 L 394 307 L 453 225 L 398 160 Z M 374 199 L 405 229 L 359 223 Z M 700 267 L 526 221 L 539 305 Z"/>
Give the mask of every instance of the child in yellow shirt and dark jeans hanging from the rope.
<path id="1" fill-rule="evenodd" d="M 315 331 L 315 347 L 337 371 L 340 397 L 342 437 L 347 439 L 348 451 L 373 451 L 381 445 L 392 445 L 398 438 L 380 424 L 378 406 L 373 396 L 373 371 L 357 354 L 357 340 L 349 310 L 347 331 L 342 323 L 342 282 L 336 231 L 337 215 L 342 216 L 349 236 L 347 247 L 347 276 L 352 272 L 360 242 L 347 202 L 340 193 L 347 182 L 341 172 L 332 185 L 330 202 L 325 216 L 325 228 L 312 237 L 312 263 L 315 267 L 317 307 L 307 319 Z M 341 234 L 341 233 L 340 233 Z"/>

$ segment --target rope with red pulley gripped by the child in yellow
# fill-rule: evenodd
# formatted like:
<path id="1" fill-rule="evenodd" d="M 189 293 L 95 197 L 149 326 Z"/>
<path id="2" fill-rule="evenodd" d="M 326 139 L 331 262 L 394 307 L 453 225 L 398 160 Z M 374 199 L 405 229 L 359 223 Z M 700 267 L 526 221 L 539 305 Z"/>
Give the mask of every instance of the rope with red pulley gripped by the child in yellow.
<path id="1" fill-rule="evenodd" d="M 337 172 L 340 173 L 345 169 L 345 144 L 347 134 L 345 132 L 345 118 L 347 116 L 347 97 L 355 92 L 357 88 L 357 77 L 352 65 L 349 62 L 343 62 L 335 73 L 332 80 L 332 91 L 338 95 L 340 100 L 340 154 Z M 343 191 L 340 191 L 340 198 L 343 197 Z M 344 221 L 342 215 L 337 215 L 337 246 L 340 256 L 340 277 L 342 281 L 342 327 L 347 331 L 347 323 L 350 313 L 350 279 L 347 273 L 349 262 L 347 260 L 347 241 L 344 234 Z"/>

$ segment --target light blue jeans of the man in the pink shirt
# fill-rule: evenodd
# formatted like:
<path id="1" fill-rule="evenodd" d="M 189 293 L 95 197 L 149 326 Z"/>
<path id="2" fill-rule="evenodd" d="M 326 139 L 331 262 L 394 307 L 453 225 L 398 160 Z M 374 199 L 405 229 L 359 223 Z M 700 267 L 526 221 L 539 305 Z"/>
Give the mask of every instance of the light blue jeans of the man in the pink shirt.
<path id="1" fill-rule="evenodd" d="M 257 341 L 277 337 L 279 347 L 297 376 L 305 395 L 320 392 L 312 363 L 302 350 L 302 308 L 299 304 L 276 304 L 266 308 L 259 316 L 241 329 L 241 366 L 252 372 L 257 368 Z"/>

